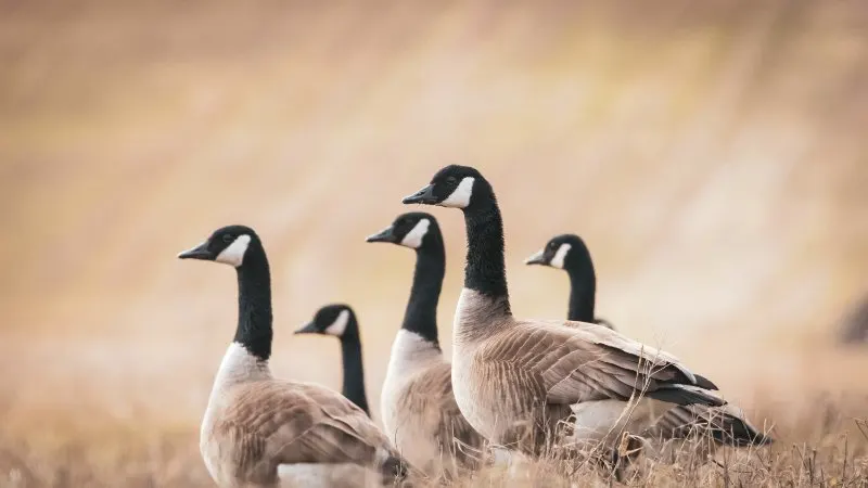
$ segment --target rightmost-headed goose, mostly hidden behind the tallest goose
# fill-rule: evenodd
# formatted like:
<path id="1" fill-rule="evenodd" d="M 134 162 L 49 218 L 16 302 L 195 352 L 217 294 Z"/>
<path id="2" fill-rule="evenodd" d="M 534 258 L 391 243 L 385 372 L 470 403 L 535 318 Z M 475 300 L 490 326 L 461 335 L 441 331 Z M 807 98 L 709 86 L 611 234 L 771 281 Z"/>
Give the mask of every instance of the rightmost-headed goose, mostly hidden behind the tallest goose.
<path id="1" fill-rule="evenodd" d="M 585 241 L 575 234 L 552 237 L 546 246 L 534 254 L 526 265 L 542 265 L 563 269 L 570 275 L 570 308 L 566 319 L 572 322 L 596 322 L 614 329 L 610 323 L 593 316 L 596 305 L 597 275 Z M 647 436 L 684 438 L 691 434 L 707 433 L 712 440 L 722 445 L 751 446 L 770 444 L 771 438 L 757 432 L 741 412 L 731 404 L 724 407 L 677 406 L 666 412 L 649 431 Z"/>

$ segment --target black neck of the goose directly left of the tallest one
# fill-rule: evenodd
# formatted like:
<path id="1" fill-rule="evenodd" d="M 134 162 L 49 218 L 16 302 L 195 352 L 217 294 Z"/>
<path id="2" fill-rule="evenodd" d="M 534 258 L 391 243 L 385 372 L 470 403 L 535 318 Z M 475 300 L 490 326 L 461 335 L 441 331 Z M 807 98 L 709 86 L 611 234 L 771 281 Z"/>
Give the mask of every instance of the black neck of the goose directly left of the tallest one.
<path id="1" fill-rule="evenodd" d="M 434 230 L 436 229 L 432 229 Z M 424 244 L 416 251 L 413 285 L 401 329 L 418 334 L 437 348 L 437 303 L 441 299 L 444 274 L 446 252 L 443 248 L 443 236 L 439 232 L 431 232 L 425 236 Z"/>

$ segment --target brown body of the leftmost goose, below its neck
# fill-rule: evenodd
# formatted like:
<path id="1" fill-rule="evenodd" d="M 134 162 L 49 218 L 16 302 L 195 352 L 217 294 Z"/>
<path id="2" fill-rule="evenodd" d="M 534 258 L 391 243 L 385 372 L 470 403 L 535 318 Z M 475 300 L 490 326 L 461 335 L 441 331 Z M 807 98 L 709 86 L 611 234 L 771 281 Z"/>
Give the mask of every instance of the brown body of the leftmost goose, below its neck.
<path id="1" fill-rule="evenodd" d="M 276 486 L 281 464 L 355 464 L 355 474 L 363 479 L 365 466 L 396 455 L 387 449 L 385 435 L 343 396 L 319 385 L 268 376 L 261 372 L 246 381 L 215 384 L 200 448 L 219 486 Z M 284 473 L 293 477 L 292 470 Z"/>

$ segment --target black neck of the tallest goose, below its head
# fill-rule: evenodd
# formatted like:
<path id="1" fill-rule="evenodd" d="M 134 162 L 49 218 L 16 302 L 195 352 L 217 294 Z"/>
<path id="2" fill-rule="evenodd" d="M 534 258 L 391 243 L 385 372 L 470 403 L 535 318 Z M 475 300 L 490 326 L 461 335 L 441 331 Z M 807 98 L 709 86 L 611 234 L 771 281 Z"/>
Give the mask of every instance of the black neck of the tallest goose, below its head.
<path id="1" fill-rule="evenodd" d="M 490 298 L 501 298 L 507 306 L 506 313 L 510 313 L 503 261 L 503 219 L 490 190 L 487 198 L 464 209 L 464 224 L 468 233 L 464 287 Z"/>

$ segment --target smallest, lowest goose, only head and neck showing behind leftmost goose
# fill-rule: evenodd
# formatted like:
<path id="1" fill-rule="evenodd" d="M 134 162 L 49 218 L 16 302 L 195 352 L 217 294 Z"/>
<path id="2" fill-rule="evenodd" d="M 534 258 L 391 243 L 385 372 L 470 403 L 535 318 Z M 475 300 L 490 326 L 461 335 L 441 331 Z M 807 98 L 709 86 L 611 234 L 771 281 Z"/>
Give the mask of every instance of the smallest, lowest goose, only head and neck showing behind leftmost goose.
<path id="1" fill-rule="evenodd" d="M 356 313 L 348 305 L 327 305 L 314 316 L 314 320 L 295 331 L 296 334 L 333 335 L 341 341 L 341 359 L 344 384 L 341 394 L 371 416 L 368 396 L 365 394 L 365 368 L 361 363 L 361 341 Z"/>

